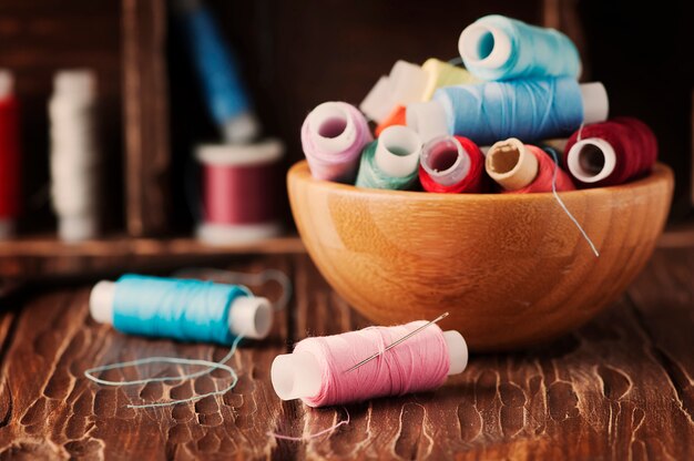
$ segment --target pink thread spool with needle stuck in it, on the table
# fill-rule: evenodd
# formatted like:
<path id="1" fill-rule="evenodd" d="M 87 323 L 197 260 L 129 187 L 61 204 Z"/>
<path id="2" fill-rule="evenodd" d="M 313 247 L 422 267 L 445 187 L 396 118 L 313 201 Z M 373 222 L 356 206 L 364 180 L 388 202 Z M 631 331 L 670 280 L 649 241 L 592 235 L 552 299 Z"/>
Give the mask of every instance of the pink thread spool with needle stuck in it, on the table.
<path id="1" fill-rule="evenodd" d="M 282 400 L 302 399 L 309 407 L 325 407 L 436 389 L 468 365 L 462 336 L 455 330 L 443 332 L 437 325 L 347 371 L 422 325 L 425 320 L 306 338 L 293 354 L 273 361 L 275 392 Z"/>

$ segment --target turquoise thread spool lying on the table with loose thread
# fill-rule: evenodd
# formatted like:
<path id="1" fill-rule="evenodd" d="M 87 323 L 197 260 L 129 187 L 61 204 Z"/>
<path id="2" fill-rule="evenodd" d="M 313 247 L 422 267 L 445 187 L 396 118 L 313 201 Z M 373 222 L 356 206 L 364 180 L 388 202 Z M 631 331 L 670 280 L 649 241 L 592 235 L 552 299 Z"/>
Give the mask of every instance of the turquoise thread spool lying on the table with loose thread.
<path id="1" fill-rule="evenodd" d="M 129 274 L 98 283 L 89 304 L 94 320 L 119 331 L 181 341 L 262 339 L 273 324 L 269 301 L 247 288 L 192 279 Z"/>

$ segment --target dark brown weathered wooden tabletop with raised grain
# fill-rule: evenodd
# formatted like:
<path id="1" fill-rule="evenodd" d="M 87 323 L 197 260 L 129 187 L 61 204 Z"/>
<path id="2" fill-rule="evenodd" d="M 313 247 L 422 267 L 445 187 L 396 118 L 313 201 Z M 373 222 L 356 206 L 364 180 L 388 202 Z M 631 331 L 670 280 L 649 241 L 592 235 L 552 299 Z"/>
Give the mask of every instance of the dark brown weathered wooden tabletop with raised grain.
<path id="1" fill-rule="evenodd" d="M 92 366 L 152 355 L 217 360 L 224 348 L 150 340 L 96 325 L 89 287 L 61 287 L 4 301 L 0 313 L 0 459 L 693 459 L 694 248 L 661 248 L 623 298 L 553 344 L 473 355 L 436 392 L 313 410 L 280 402 L 269 383 L 278 354 L 306 335 L 367 324 L 307 256 L 256 256 L 233 264 L 292 275 L 295 295 L 266 341 L 231 360 L 236 388 L 174 408 L 129 402 L 182 398 L 226 386 L 223 373 L 173 386 L 114 389 L 86 381 Z M 590 287 L 586 287 L 590 289 Z M 261 287 L 267 296 L 276 287 Z M 144 367 L 111 378 L 175 372 Z M 309 442 L 279 441 L 346 418 Z"/>

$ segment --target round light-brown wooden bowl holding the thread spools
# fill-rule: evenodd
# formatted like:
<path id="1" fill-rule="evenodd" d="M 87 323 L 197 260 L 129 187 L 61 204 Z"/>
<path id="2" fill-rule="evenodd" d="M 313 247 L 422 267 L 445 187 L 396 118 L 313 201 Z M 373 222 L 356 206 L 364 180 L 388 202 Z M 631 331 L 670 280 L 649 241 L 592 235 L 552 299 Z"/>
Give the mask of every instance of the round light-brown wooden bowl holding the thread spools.
<path id="1" fill-rule="evenodd" d="M 320 273 L 379 325 L 433 319 L 474 350 L 552 339 L 613 303 L 643 268 L 670 209 L 662 164 L 621 186 L 552 194 L 430 194 L 287 175 L 292 212 Z"/>

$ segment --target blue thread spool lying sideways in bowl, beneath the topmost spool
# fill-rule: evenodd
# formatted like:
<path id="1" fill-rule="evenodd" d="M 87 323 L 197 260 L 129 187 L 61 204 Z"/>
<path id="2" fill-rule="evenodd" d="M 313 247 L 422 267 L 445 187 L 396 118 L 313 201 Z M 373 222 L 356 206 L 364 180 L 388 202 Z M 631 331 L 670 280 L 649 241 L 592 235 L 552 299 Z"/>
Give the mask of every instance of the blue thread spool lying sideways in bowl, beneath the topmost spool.
<path id="1" fill-rule="evenodd" d="M 450 134 L 477 144 L 508 137 L 532 142 L 604 121 L 608 110 L 600 82 L 579 84 L 568 76 L 513 80 L 439 89 L 432 101 L 407 106 L 407 125 L 425 143 Z"/>

